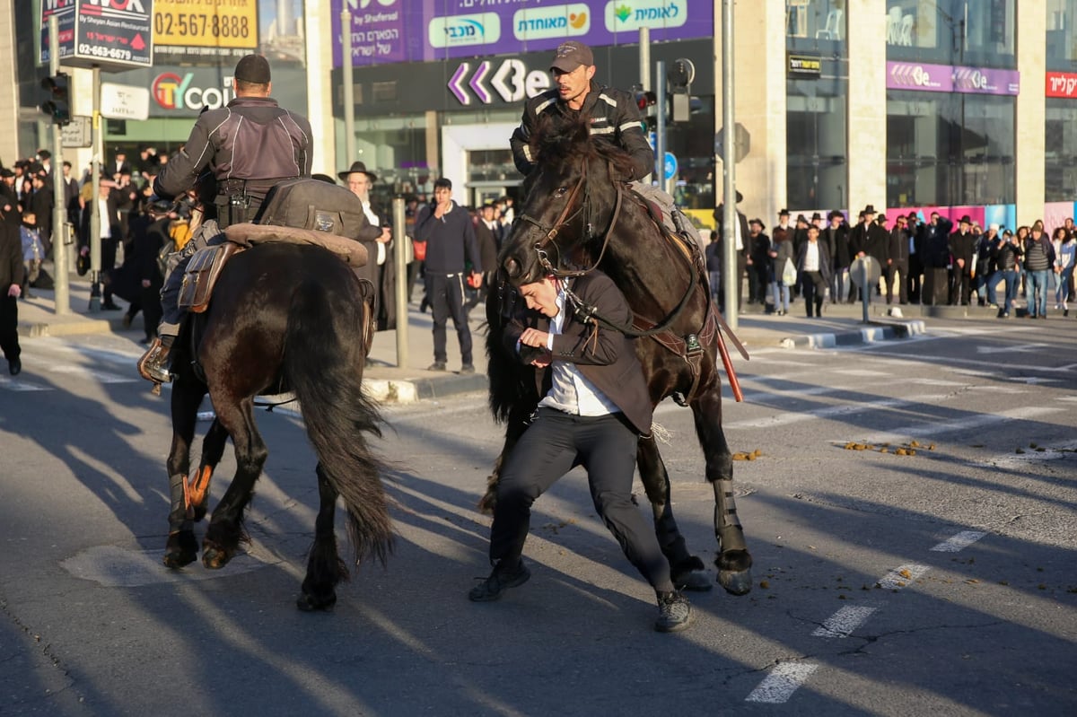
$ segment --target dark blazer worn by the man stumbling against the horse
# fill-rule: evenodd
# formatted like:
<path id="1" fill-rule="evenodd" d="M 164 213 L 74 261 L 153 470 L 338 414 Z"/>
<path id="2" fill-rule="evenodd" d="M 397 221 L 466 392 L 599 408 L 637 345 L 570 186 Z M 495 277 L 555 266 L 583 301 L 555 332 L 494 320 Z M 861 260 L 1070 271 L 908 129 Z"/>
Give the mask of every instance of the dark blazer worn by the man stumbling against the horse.
<path id="1" fill-rule="evenodd" d="M 631 324 L 632 311 L 625 295 L 601 271 L 591 271 L 572 280 L 571 289 L 584 304 L 593 306 L 599 315 L 617 324 Z M 563 310 L 572 312 L 571 304 Z M 509 323 L 502 335 L 504 348 L 509 354 L 520 355 L 516 345 L 528 326 L 549 331 L 549 319 L 536 311 L 527 311 L 522 320 Z M 634 341 L 601 324 L 584 323 L 574 312 L 564 318 L 561 329 L 554 336 L 553 360 L 575 364 L 595 388 L 616 404 L 638 433 L 649 434 L 653 406 L 643 368 L 635 355 Z M 530 363 L 533 354 L 528 351 L 522 353 L 521 363 Z M 548 393 L 549 376 L 549 368 L 541 375 L 536 371 L 540 395 Z"/>

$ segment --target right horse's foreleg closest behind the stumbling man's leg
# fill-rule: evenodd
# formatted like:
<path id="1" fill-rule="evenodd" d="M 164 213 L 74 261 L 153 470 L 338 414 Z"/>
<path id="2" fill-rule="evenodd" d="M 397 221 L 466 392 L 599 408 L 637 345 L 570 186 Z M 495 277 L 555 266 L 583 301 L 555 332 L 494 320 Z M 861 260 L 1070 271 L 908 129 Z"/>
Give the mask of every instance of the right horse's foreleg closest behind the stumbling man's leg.
<path id="1" fill-rule="evenodd" d="M 635 464 L 640 468 L 640 480 L 643 481 L 647 500 L 651 502 L 655 535 L 658 537 L 662 554 L 669 561 L 673 585 L 679 589 L 710 590 L 711 581 L 702 572 L 703 561 L 688 552 L 688 546 L 673 517 L 673 507 L 670 505 L 670 477 L 654 436 L 640 439 Z"/>

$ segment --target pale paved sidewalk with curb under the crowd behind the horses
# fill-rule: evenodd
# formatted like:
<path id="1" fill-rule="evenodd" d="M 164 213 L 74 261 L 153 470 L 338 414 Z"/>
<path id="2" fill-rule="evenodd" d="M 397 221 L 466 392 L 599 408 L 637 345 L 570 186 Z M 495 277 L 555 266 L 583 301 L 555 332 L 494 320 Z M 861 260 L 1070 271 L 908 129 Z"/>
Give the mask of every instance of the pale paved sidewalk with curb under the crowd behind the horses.
<path id="1" fill-rule="evenodd" d="M 142 315 L 135 318 L 130 328 L 123 327 L 125 311 L 89 311 L 89 281 L 72 273 L 69 279 L 71 312 L 59 315 L 55 311 L 54 293 L 31 290 L 33 298 L 18 303 L 18 333 L 23 339 L 39 336 L 72 336 L 78 334 L 113 333 L 127 336 L 132 341 L 142 338 Z M 116 299 L 125 310 L 126 303 Z M 829 348 L 854 346 L 875 341 L 893 340 L 926 333 L 922 315 L 946 319 L 993 319 L 994 312 L 977 307 L 900 307 L 903 318 L 886 315 L 885 304 L 872 304 L 870 323 L 863 323 L 861 305 L 827 305 L 822 319 L 798 317 L 803 304 L 796 303 L 785 317 L 765 314 L 758 305 L 745 307 L 739 317 L 738 338 L 751 354 L 760 348 Z M 923 313 L 922 313 L 923 312 Z M 461 375 L 460 349 L 452 322 L 448 326 L 448 371 L 428 371 L 434 361 L 433 335 L 430 313 L 420 313 L 418 304 L 408 307 L 407 360 L 405 366 L 396 363 L 396 332 L 379 332 L 374 339 L 364 375 L 370 395 L 389 403 L 411 403 L 436 399 L 450 394 L 486 391 L 486 332 L 481 307 L 471 313 L 472 341 L 474 343 L 475 374 Z M 743 359 L 729 346 L 737 365 Z M 131 370 L 135 370 L 134 365 Z"/>

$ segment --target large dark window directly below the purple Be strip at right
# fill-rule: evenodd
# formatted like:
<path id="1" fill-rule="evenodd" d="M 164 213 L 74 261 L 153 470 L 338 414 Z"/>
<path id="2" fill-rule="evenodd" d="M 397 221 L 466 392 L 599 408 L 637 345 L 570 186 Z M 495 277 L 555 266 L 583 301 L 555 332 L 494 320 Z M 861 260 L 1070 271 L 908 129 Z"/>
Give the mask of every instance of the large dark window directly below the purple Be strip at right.
<path id="1" fill-rule="evenodd" d="M 886 93 L 890 207 L 1015 203 L 1012 97 Z"/>

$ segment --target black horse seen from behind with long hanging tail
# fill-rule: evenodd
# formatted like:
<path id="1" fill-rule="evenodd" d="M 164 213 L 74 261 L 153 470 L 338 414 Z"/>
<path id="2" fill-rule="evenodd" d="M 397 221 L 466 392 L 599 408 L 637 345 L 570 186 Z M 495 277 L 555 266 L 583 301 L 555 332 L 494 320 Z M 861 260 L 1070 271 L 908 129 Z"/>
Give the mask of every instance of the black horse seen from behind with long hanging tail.
<path id="1" fill-rule="evenodd" d="M 260 244 L 224 266 L 208 310 L 186 322 L 173 350 L 165 565 L 182 567 L 197 558 L 194 522 L 206 516 L 210 478 L 229 436 L 236 476 L 206 531 L 202 564 L 220 568 L 235 556 L 246 537 L 243 510 L 268 455 L 254 422 L 254 398 L 285 390 L 299 400 L 319 461 L 320 506 L 298 607 L 332 606 L 335 586 L 348 577 L 334 531 L 338 496 L 356 564 L 367 557 L 384 562 L 392 525 L 382 466 L 366 440 L 381 435 L 381 419 L 362 390 L 372 336 L 366 301 L 352 269 L 321 247 Z M 216 418 L 188 481 L 198 406 L 207 392 Z"/>

